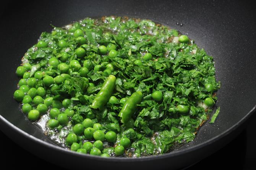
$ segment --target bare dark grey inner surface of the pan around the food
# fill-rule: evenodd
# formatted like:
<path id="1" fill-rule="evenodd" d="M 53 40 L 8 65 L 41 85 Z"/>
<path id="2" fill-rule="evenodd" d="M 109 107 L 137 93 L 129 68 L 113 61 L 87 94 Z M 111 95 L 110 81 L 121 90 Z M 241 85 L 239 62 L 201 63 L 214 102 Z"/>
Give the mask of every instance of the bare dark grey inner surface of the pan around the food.
<path id="1" fill-rule="evenodd" d="M 200 48 L 214 57 L 216 79 L 221 81 L 216 106 L 220 114 L 214 124 L 206 123 L 196 139 L 181 149 L 198 145 L 217 137 L 236 125 L 254 107 L 256 101 L 256 49 L 255 21 L 247 4 L 207 1 L 147 2 L 147 1 L 72 1 L 29 2 L 10 5 L 1 18 L 1 98 L 0 114 L 18 128 L 47 142 L 39 127 L 28 121 L 13 100 L 18 78 L 15 70 L 21 64 L 26 49 L 37 42 L 41 32 L 50 32 L 57 27 L 85 17 L 131 16 L 151 19 L 168 25 L 196 41 Z M 9 6 L 9 7 L 10 7 Z M 194 6 L 195 8 L 191 8 Z M 47 12 L 45 10 L 47 9 Z M 239 14 L 237 11 L 243 11 Z M 183 26 L 180 27 L 182 23 Z"/>

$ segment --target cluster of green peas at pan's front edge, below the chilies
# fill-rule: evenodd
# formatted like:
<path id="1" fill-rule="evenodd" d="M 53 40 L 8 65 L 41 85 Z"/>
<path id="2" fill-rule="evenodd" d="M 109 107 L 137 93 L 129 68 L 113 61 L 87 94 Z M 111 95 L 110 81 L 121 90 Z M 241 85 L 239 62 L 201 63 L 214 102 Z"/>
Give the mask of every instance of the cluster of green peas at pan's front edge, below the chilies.
<path id="1" fill-rule="evenodd" d="M 83 135 L 88 141 L 84 143 L 77 143 L 78 137 Z M 90 142 L 94 140 L 94 142 Z M 104 133 L 102 125 L 94 123 L 91 119 L 84 119 L 82 124 L 76 124 L 73 127 L 73 133 L 69 133 L 66 137 L 66 145 L 71 146 L 71 151 L 76 151 L 84 154 L 91 154 L 102 157 L 110 157 L 108 153 L 102 153 L 104 149 L 103 142 L 115 144 L 117 141 L 117 134 L 113 131 Z M 116 143 L 114 154 L 115 156 L 123 156 L 125 149 L 131 145 L 131 141 L 127 137 L 123 137 Z"/>

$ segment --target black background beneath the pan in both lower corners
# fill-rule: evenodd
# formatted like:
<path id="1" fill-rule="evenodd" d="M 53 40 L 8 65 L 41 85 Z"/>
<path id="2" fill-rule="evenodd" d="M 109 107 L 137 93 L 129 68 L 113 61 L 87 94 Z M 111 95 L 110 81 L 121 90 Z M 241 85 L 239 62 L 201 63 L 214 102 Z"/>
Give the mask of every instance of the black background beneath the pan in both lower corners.
<path id="1" fill-rule="evenodd" d="M 255 137 L 256 115 L 254 114 L 247 127 L 240 135 L 231 141 L 227 146 L 220 149 L 216 153 L 201 160 L 200 162 L 185 168 L 192 169 L 234 169 L 234 170 L 250 170 L 255 169 L 255 153 L 256 153 L 256 137 Z M 16 141 L 18 142 L 18 141 Z M 11 141 L 5 134 L 0 131 L 0 146 L 2 148 L 2 167 L 16 167 L 19 169 L 42 168 L 42 169 L 59 169 L 57 165 L 46 162 L 43 159 L 29 153 L 25 149 Z M 50 154 L 50 153 L 49 153 Z M 186 159 L 186 158 L 184 158 Z M 10 161 L 15 160 L 15 164 Z M 86 165 L 84 165 L 85 168 Z M 90 167 L 93 169 L 93 167 Z M 104 165 L 102 165 L 102 169 Z M 113 166 L 113 168 L 117 168 Z M 122 167 L 120 167 L 122 169 Z M 64 170 L 64 168 L 62 168 Z M 168 168 L 169 169 L 169 168 Z"/>

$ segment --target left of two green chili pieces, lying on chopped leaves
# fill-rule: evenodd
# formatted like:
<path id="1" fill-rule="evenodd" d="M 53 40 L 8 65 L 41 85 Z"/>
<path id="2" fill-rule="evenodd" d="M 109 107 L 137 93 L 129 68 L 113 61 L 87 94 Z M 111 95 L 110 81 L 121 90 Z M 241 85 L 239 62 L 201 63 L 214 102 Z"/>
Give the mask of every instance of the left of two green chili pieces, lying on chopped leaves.
<path id="1" fill-rule="evenodd" d="M 113 75 L 110 75 L 103 83 L 100 91 L 92 101 L 91 108 L 102 109 L 103 106 L 109 101 L 110 96 L 112 95 L 113 89 L 115 88 L 116 78 Z"/>

